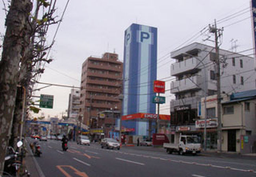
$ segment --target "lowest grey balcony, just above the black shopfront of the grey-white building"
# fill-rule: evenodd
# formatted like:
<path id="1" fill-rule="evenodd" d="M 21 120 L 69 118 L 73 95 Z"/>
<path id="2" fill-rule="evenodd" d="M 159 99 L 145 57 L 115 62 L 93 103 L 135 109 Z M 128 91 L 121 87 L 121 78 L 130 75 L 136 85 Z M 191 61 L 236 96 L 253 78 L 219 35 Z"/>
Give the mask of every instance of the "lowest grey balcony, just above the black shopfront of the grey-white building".
<path id="1" fill-rule="evenodd" d="M 197 109 L 198 101 L 201 101 L 201 97 L 199 97 L 199 96 L 183 98 L 183 99 L 179 99 L 179 100 L 172 100 L 170 102 L 171 112 L 174 111 L 174 107 L 182 106 L 182 105 L 191 105 L 191 109 Z"/>

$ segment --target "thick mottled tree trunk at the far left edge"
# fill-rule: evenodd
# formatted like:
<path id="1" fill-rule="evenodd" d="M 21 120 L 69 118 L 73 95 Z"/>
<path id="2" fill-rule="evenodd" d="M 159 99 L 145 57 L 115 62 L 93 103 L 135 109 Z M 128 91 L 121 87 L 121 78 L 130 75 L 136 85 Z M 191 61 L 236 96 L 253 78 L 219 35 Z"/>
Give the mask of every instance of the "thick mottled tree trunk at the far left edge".
<path id="1" fill-rule="evenodd" d="M 11 132 L 24 26 L 32 10 L 30 0 L 12 0 L 6 17 L 6 34 L 0 61 L 0 171 Z"/>

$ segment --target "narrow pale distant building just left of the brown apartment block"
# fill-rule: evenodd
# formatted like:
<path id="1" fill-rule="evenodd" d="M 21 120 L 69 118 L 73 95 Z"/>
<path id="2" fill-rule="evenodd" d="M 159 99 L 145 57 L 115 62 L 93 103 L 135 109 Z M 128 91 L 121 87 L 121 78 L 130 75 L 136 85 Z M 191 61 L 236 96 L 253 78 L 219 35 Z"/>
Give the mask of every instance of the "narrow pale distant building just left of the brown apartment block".
<path id="1" fill-rule="evenodd" d="M 77 119 L 80 108 L 80 90 L 71 89 L 69 94 L 68 118 Z"/>

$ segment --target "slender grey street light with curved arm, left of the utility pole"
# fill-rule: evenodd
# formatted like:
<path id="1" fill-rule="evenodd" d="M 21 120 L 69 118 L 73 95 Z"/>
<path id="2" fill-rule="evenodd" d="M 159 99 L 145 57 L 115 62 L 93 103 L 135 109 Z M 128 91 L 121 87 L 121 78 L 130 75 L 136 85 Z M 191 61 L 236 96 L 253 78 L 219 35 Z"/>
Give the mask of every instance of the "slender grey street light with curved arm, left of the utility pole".
<path id="1" fill-rule="evenodd" d="M 204 66 L 204 151 L 206 151 L 206 96 L 207 96 L 207 90 L 206 90 L 206 67 L 202 60 L 200 60 L 198 57 L 195 57 L 194 55 L 191 55 L 189 53 L 184 53 L 185 55 L 189 55 L 191 57 L 194 57 L 197 59 L 202 65 Z"/>

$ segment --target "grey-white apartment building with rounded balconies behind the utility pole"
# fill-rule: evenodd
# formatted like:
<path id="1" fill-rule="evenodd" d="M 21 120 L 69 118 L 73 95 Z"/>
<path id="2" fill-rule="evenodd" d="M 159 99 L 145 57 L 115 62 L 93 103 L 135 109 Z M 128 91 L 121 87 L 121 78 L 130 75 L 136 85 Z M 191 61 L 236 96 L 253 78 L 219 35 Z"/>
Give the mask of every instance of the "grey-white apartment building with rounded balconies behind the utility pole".
<path id="1" fill-rule="evenodd" d="M 198 101 L 202 97 L 217 94 L 215 75 L 215 49 L 200 43 L 193 43 L 174 52 L 171 58 L 171 131 L 178 133 L 199 133 L 195 128 L 198 120 Z M 221 93 L 231 94 L 255 89 L 256 75 L 254 59 L 239 53 L 219 50 L 221 67 Z M 217 117 L 217 115 L 214 115 Z M 213 117 L 211 117 L 213 118 Z"/>

